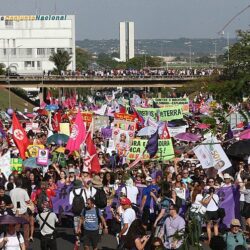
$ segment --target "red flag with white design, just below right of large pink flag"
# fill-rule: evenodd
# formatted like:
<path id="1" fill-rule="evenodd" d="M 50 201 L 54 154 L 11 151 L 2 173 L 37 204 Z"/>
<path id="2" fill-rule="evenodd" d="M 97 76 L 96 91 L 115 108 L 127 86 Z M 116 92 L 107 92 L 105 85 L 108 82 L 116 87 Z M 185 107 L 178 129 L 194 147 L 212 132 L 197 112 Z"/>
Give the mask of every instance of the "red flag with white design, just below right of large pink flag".
<path id="1" fill-rule="evenodd" d="M 86 143 L 87 155 L 88 155 L 87 158 L 84 159 L 85 163 L 89 162 L 89 164 L 87 164 L 87 167 L 90 169 L 90 172 L 99 173 L 101 170 L 101 166 L 100 166 L 99 159 L 97 156 L 96 147 L 92 141 L 90 133 L 88 133 L 85 143 Z"/>

